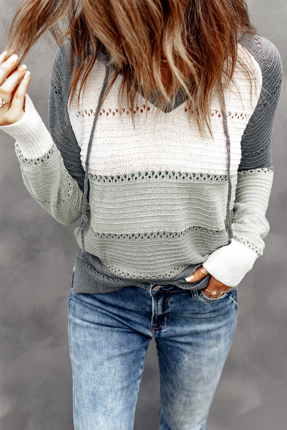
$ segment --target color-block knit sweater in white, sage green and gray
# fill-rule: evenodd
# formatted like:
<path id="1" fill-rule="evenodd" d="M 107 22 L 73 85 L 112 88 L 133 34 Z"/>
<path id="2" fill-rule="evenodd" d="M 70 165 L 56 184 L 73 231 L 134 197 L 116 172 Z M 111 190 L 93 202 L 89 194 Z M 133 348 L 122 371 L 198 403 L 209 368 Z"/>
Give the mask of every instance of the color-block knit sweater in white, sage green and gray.
<path id="1" fill-rule="evenodd" d="M 195 120 L 188 123 L 183 92 L 167 117 L 160 112 L 154 131 L 154 99 L 139 94 L 135 106 L 120 111 L 121 75 L 97 111 L 103 83 L 112 75 L 105 51 L 89 74 L 80 107 L 75 97 L 68 111 L 68 42 L 56 53 L 52 69 L 51 134 L 28 95 L 22 119 L 0 127 L 16 139 L 29 192 L 62 224 L 82 215 L 88 165 L 86 252 L 77 254 L 76 292 L 146 283 L 200 289 L 210 276 L 195 283 L 185 277 L 202 264 L 234 287 L 262 255 L 282 66 L 275 46 L 259 36 L 244 35 L 238 56 L 254 72 L 256 85 L 250 97 L 250 82 L 236 65 L 234 83 L 224 92 L 226 116 L 217 98 L 212 101 L 213 137 L 201 137 Z M 75 236 L 82 247 L 80 227 Z"/>

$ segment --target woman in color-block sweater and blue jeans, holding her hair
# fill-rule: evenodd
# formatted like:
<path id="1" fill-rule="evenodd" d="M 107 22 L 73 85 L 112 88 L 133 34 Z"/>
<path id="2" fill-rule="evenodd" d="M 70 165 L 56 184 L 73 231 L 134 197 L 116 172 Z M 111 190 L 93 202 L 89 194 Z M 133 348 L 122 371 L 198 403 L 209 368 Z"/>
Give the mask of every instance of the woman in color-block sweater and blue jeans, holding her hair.
<path id="1" fill-rule="evenodd" d="M 51 135 L 16 69 L 47 29 L 61 46 Z M 24 182 L 62 224 L 84 218 L 68 300 L 75 428 L 133 428 L 154 336 L 160 429 L 206 429 L 236 286 L 268 233 L 275 46 L 243 0 L 43 0 L 23 3 L 7 51 L 0 125 Z"/>

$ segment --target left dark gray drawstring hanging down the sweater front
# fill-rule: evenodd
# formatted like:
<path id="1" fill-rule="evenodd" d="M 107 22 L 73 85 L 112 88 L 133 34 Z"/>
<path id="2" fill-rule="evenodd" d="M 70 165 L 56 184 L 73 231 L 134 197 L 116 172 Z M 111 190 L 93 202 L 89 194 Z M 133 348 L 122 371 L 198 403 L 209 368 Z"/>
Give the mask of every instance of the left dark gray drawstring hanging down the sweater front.
<path id="1" fill-rule="evenodd" d="M 99 111 L 102 105 L 102 97 L 104 95 L 107 83 L 108 83 L 108 76 L 110 74 L 110 68 L 107 67 L 106 68 L 106 72 L 105 72 L 105 78 L 104 78 L 104 83 L 99 95 L 99 101 L 98 101 L 98 106 L 97 106 L 97 110 L 96 110 L 96 114 L 94 117 L 94 121 L 93 121 L 93 126 L 92 126 L 92 130 L 91 130 L 91 134 L 89 135 L 89 144 L 87 147 L 87 153 L 86 153 L 86 162 L 85 162 L 85 179 L 84 179 L 84 192 L 83 192 L 83 223 L 80 227 L 80 232 L 81 232 L 81 242 L 82 242 L 82 258 L 84 258 L 85 256 L 85 243 L 84 243 L 84 231 L 86 228 L 86 224 L 88 221 L 87 215 L 86 215 L 86 209 L 87 209 L 87 193 L 88 193 L 88 169 L 89 169 L 89 154 L 91 151 L 91 147 L 92 147 L 92 141 L 93 141 L 93 136 L 94 136 L 94 131 L 95 131 L 95 127 L 96 127 L 96 122 L 97 122 L 97 118 L 99 116 Z"/>

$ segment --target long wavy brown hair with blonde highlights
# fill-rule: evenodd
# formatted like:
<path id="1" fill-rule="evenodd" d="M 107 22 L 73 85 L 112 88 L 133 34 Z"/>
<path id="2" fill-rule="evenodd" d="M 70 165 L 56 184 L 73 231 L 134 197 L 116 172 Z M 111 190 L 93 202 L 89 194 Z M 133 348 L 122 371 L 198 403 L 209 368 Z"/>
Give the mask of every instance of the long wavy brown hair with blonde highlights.
<path id="1" fill-rule="evenodd" d="M 145 98 L 157 94 L 157 111 L 167 113 L 181 87 L 188 117 L 195 116 L 201 134 L 211 133 L 212 98 L 216 94 L 223 107 L 222 91 L 236 64 L 250 78 L 252 92 L 252 71 L 237 55 L 241 35 L 256 33 L 245 0 L 24 0 L 6 50 L 16 52 L 20 63 L 47 30 L 59 46 L 71 40 L 70 102 L 80 82 L 79 105 L 104 47 L 114 74 L 103 100 L 121 74 L 119 109 L 128 103 L 133 125 L 139 89 Z"/>

